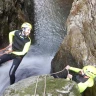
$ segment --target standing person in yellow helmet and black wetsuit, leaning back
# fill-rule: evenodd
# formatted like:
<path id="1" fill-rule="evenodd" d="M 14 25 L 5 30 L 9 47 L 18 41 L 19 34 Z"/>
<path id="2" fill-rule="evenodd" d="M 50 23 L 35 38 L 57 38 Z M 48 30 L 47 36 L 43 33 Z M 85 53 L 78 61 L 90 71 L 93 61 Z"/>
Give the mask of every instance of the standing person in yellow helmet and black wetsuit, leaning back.
<path id="1" fill-rule="evenodd" d="M 13 59 L 13 64 L 9 71 L 10 84 L 15 82 L 15 72 L 20 65 L 23 57 L 27 54 L 31 45 L 29 34 L 32 25 L 25 22 L 21 25 L 22 30 L 14 30 L 9 33 L 9 48 L 5 54 L 0 57 L 0 64 Z"/>

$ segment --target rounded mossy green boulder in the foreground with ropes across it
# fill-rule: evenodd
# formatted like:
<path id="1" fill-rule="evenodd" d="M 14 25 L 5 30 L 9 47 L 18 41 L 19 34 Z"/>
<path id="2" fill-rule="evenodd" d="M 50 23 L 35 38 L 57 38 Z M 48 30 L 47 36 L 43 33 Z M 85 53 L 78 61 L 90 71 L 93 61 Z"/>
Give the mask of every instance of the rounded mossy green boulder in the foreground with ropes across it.
<path id="1" fill-rule="evenodd" d="M 51 76 L 35 76 L 9 86 L 3 96 L 81 96 L 77 84 Z"/>

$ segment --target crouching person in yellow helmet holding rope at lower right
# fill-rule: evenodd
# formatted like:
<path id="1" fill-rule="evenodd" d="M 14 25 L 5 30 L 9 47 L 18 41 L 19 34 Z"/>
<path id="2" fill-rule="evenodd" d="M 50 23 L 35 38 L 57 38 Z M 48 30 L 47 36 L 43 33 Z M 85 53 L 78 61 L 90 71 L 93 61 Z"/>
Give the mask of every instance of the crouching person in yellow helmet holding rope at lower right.
<path id="1" fill-rule="evenodd" d="M 80 93 L 84 92 L 87 87 L 92 87 L 94 85 L 94 79 L 96 77 L 96 68 L 94 66 L 87 65 L 82 69 L 79 69 L 67 65 L 64 70 L 65 78 L 70 79 L 73 77 L 68 73 L 68 70 L 77 73 L 74 81 L 78 83 Z"/>

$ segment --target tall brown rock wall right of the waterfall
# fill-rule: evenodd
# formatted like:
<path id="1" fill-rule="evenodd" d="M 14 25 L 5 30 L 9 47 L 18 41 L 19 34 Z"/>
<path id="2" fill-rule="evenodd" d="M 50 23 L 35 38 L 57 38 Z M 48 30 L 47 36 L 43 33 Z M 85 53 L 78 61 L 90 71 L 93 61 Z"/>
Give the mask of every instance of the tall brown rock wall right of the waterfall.
<path id="1" fill-rule="evenodd" d="M 62 70 L 68 64 L 96 66 L 96 0 L 74 0 L 72 4 L 67 35 L 52 60 L 52 72 Z M 94 90 L 85 96 L 96 96 Z"/>

